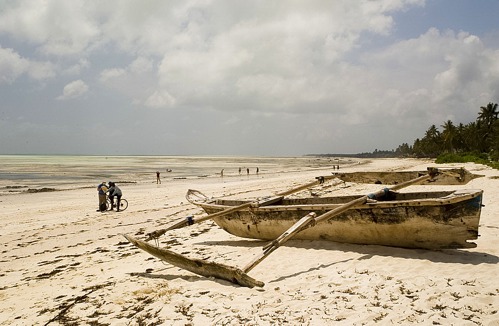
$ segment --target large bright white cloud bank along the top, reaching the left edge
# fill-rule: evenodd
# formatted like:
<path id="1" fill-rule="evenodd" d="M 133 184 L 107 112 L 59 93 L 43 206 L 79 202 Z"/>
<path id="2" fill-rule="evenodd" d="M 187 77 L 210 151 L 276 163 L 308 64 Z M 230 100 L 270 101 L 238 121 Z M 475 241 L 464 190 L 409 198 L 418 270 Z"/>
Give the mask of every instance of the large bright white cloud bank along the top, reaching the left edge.
<path id="1" fill-rule="evenodd" d="M 0 30 L 45 54 L 86 56 L 115 49 L 136 55 L 128 66 L 104 68 L 99 77 L 135 103 L 152 105 L 161 103 L 153 100 L 157 96 L 171 96 L 178 105 L 221 110 L 295 110 L 329 97 L 323 92 L 335 82 L 331 74 L 360 46 L 362 33 L 389 34 L 391 12 L 423 4 L 32 0 L 5 5 Z M 156 56 L 163 58 L 157 71 L 151 59 Z M 88 65 L 65 72 L 78 74 L 82 67 Z"/>

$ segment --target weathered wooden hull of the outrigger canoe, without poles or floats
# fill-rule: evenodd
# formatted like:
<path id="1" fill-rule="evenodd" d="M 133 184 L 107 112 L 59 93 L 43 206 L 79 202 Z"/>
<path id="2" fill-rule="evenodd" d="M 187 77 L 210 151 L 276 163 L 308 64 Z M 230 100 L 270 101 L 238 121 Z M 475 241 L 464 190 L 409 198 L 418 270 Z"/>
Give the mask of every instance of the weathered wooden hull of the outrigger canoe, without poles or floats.
<path id="1" fill-rule="evenodd" d="M 326 240 L 403 248 L 475 248 L 482 190 L 399 193 L 391 200 L 366 203 L 297 234 L 294 239 Z M 310 212 L 317 216 L 359 196 L 283 199 L 271 206 L 246 208 L 213 220 L 238 237 L 274 240 Z M 194 202 L 213 214 L 246 201 Z"/>

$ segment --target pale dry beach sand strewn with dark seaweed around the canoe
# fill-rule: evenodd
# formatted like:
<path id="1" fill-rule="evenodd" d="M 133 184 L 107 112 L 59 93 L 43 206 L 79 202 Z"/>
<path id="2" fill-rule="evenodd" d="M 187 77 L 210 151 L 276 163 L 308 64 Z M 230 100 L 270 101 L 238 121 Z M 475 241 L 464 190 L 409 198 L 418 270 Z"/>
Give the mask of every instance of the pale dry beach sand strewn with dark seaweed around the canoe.
<path id="1" fill-rule="evenodd" d="M 435 166 L 430 162 L 378 159 L 342 172 L 424 170 Z M 127 185 L 122 189 L 130 206 L 121 213 L 95 212 L 94 189 L 0 196 L 0 325 L 499 325 L 499 180 L 490 178 L 499 171 L 464 165 L 487 177 L 407 191 L 483 189 L 477 248 L 290 240 L 249 273 L 265 282 L 253 289 L 165 265 L 119 234 L 140 238 L 205 215 L 185 200 L 189 188 L 254 198 L 329 175 L 329 169 Z M 329 182 L 303 193 L 367 194 L 378 188 Z M 178 253 L 238 267 L 263 244 L 229 235 L 213 221 L 161 238 L 162 246 Z"/>

